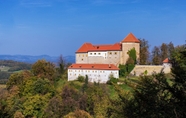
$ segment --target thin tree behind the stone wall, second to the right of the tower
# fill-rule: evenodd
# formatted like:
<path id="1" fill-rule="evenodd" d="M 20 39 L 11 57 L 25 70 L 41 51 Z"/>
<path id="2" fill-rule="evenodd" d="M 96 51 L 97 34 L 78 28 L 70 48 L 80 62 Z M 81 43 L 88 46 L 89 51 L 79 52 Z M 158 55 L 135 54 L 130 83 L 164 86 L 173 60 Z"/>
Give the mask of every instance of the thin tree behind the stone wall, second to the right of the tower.
<path id="1" fill-rule="evenodd" d="M 152 50 L 152 64 L 154 64 L 154 65 L 161 64 L 160 48 L 157 46 L 155 46 Z"/>

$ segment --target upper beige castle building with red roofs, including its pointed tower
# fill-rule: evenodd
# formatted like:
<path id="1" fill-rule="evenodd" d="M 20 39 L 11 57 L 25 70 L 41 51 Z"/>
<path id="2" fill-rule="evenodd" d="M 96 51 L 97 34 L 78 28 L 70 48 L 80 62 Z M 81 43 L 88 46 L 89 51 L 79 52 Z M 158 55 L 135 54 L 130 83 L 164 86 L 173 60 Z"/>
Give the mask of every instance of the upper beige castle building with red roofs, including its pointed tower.
<path id="1" fill-rule="evenodd" d="M 139 59 L 140 41 L 132 34 L 128 34 L 120 43 L 111 45 L 92 45 L 84 43 L 76 51 L 76 63 L 89 64 L 125 64 L 129 58 L 127 52 L 135 48 Z"/>

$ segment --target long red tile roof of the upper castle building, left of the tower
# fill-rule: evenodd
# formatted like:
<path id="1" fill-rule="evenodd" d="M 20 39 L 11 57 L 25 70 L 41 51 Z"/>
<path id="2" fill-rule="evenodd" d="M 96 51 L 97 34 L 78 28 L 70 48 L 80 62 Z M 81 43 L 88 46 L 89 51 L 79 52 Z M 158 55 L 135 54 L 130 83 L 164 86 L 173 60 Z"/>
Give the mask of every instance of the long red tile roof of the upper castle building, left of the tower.
<path id="1" fill-rule="evenodd" d="M 121 44 L 115 43 L 112 45 L 92 45 L 91 43 L 84 43 L 76 53 L 83 53 L 89 51 L 119 51 L 121 50 Z"/>

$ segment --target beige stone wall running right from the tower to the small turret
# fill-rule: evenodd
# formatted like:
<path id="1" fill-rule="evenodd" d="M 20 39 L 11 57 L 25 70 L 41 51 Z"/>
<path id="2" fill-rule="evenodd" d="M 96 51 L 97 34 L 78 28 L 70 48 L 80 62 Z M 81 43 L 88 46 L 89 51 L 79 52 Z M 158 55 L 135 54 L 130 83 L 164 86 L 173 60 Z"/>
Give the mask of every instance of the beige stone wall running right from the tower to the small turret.
<path id="1" fill-rule="evenodd" d="M 160 73 L 163 70 L 164 73 L 171 72 L 171 66 L 163 65 L 136 65 L 131 74 L 139 76 L 141 74 L 152 75 L 153 73 Z"/>

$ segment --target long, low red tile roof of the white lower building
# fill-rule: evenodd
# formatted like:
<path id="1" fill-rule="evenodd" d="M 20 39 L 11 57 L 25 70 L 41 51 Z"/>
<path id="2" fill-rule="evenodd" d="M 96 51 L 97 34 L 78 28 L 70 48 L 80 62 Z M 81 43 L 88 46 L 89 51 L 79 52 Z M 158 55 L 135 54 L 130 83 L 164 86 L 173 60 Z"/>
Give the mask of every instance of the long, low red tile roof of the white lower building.
<path id="1" fill-rule="evenodd" d="M 119 68 L 113 64 L 72 64 L 68 69 L 119 70 Z"/>

